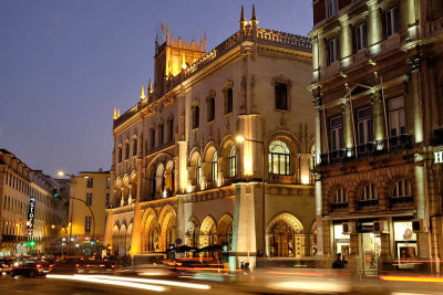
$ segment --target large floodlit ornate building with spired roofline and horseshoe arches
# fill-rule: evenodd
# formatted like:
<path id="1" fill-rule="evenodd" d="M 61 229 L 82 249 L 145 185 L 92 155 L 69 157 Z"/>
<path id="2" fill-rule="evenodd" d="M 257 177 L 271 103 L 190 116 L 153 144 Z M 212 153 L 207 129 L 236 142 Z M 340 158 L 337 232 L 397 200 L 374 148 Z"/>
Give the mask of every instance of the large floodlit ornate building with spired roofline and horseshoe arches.
<path id="1" fill-rule="evenodd" d="M 239 30 L 215 49 L 167 28 L 154 60 L 154 85 L 114 110 L 109 249 L 227 242 L 253 266 L 313 254 L 310 40 L 259 28 L 241 9 Z"/>

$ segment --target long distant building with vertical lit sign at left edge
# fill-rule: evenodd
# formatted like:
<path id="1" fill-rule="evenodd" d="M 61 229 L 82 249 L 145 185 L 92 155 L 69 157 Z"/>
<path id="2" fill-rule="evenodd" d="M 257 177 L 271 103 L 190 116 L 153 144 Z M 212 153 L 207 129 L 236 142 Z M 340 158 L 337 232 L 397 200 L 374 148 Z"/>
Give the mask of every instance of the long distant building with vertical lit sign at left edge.
<path id="1" fill-rule="evenodd" d="M 0 255 L 54 253 L 66 208 L 53 197 L 59 183 L 0 149 Z"/>

